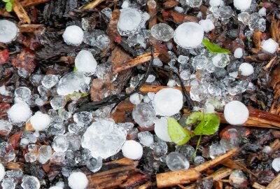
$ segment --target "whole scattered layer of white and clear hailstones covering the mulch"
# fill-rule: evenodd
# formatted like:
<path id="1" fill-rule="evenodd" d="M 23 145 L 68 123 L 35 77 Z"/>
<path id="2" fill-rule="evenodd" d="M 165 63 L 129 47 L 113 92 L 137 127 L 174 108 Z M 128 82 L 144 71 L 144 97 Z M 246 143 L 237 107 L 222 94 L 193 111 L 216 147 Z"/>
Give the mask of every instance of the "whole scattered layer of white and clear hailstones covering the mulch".
<path id="1" fill-rule="evenodd" d="M 187 1 L 187 6 L 198 7 L 202 1 Z M 156 2 L 149 0 L 148 4 L 156 6 Z M 233 57 L 222 53 L 211 53 L 202 45 L 204 33 L 208 33 L 215 28 L 218 20 L 228 20 L 233 16 L 230 6 L 225 6 L 222 0 L 210 0 L 209 14 L 206 20 L 195 22 L 185 22 L 174 31 L 172 27 L 160 23 L 152 27 L 151 31 L 145 28 L 145 23 L 149 19 L 148 13 L 132 8 L 133 4 L 124 1 L 118 21 L 118 31 L 122 36 L 128 36 L 127 41 L 132 45 L 146 47 L 146 39 L 149 35 L 162 41 L 167 48 L 172 49 L 169 41 L 174 38 L 178 48 L 190 52 L 190 58 L 185 55 L 176 57 L 174 52 L 169 51 L 172 61 L 169 68 L 180 73 L 186 85 L 190 85 L 190 96 L 200 102 L 202 106 L 197 107 L 207 113 L 215 112 L 215 109 L 224 107 L 225 119 L 231 125 L 241 125 L 248 119 L 248 109 L 241 102 L 230 98 L 231 95 L 240 94 L 246 90 L 253 90 L 254 86 L 248 80 L 238 81 L 239 74 L 249 77 L 253 73 L 253 66 L 246 62 L 241 62 L 244 50 L 239 47 L 235 49 Z M 182 6 L 186 6 L 183 5 Z M 260 8 L 255 12 L 255 1 L 235 0 L 234 6 L 241 13 L 238 20 L 248 25 L 249 31 L 246 36 L 251 37 L 253 31 L 265 30 L 265 8 Z M 184 9 L 180 6 L 174 8 L 179 13 Z M 110 8 L 102 10 L 111 17 Z M 201 13 L 197 15 L 201 18 Z M 85 20 L 83 20 L 85 22 Z M 8 20 L 0 20 L 0 42 L 10 43 L 18 36 L 18 27 Z M 87 43 L 84 36 L 85 31 L 76 25 L 66 27 L 63 38 L 68 45 L 80 45 Z M 99 38 L 99 45 L 106 48 L 108 36 Z M 239 41 L 239 43 L 241 43 Z M 262 49 L 274 53 L 278 44 L 271 38 L 262 41 Z M 199 52 L 197 54 L 197 52 Z M 234 61 L 230 61 L 234 59 Z M 240 59 L 240 61 L 239 61 Z M 179 69 L 174 66 L 179 62 Z M 155 59 L 156 66 L 162 66 L 160 59 Z M 15 104 L 8 110 L 8 121 L 0 120 L 0 131 L 8 136 L 13 127 L 23 127 L 31 125 L 34 132 L 24 132 L 20 140 L 22 148 L 27 147 L 25 154 L 26 162 L 39 162 L 45 164 L 48 161 L 63 165 L 66 160 L 74 160 L 72 165 L 83 163 L 92 172 L 97 172 L 102 167 L 102 160 L 116 155 L 122 151 L 123 156 L 132 160 L 139 160 L 143 155 L 144 148 L 153 151 L 153 157 L 160 162 L 166 162 L 167 167 L 173 170 L 188 169 L 191 161 L 188 157 L 193 155 L 192 146 L 185 146 L 184 151 L 188 154 L 171 152 L 167 155 L 167 142 L 171 142 L 167 132 L 167 118 L 181 118 L 179 111 L 183 108 L 183 95 L 180 90 L 172 88 L 179 85 L 171 78 L 168 86 L 157 93 L 149 92 L 146 95 L 138 93 L 130 97 L 130 102 L 135 104 L 132 116 L 139 127 L 148 128 L 154 125 L 155 135 L 151 132 L 139 132 L 133 123 L 114 123 L 108 118 L 111 106 L 105 106 L 97 111 L 75 112 L 76 100 L 82 93 L 88 93 L 92 76 L 103 78 L 108 70 L 104 66 L 99 69 L 97 61 L 89 50 L 81 50 L 76 55 L 75 66 L 77 71 L 66 73 L 65 76 L 42 75 L 34 73 L 29 77 L 34 87 L 37 87 L 39 94 L 31 94 L 29 87 L 18 87 L 14 92 L 8 90 L 6 86 L 0 86 L 0 94 L 11 96 L 14 94 Z M 228 66 L 228 71 L 225 67 Z M 230 69 L 229 69 L 230 68 Z M 194 71 L 200 70 L 201 80 L 196 78 Z M 106 72 L 107 71 L 107 72 Z M 105 73 L 104 73 L 105 72 Z M 220 75 L 221 80 L 211 83 L 207 80 L 210 74 Z M 139 76 L 141 78 L 141 76 Z M 132 80 L 133 81 L 133 80 Z M 147 83 L 153 83 L 155 76 L 148 76 Z M 133 83 L 133 82 L 132 82 Z M 131 85 L 133 85 L 131 83 Z M 227 85 L 228 84 L 228 85 Z M 230 86 L 230 87 L 229 87 Z M 37 111 L 32 112 L 31 106 L 43 106 L 50 100 L 52 109 L 48 113 Z M 67 105 L 66 105 L 67 104 Z M 67 120 L 73 117 L 74 123 Z M 68 132 L 66 132 L 68 130 Z M 237 132 L 237 130 L 235 130 Z M 127 140 L 127 134 L 133 140 Z M 51 145 L 36 146 L 36 141 L 44 137 L 54 137 Z M 231 141 L 223 141 L 221 144 L 210 146 L 209 157 L 215 158 L 217 155 L 225 153 L 225 146 L 233 146 Z M 82 150 L 80 150 L 80 146 Z M 177 146 L 178 147 L 178 146 Z M 179 148 L 179 147 L 178 147 Z M 181 147 L 183 148 L 183 147 Z M 77 152 L 74 155 L 73 152 Z M 52 153 L 53 152 L 53 153 Z M 3 165 L 13 161 L 15 151 L 8 142 L 0 144 L 0 162 Z M 197 156 L 193 163 L 200 165 L 204 162 L 202 156 Z M 22 178 L 21 186 L 24 189 L 40 188 L 40 182 L 35 176 L 23 175 L 20 170 L 6 171 L 0 163 L 0 181 L 3 189 L 13 189 L 17 178 Z M 71 164 L 70 163 L 70 164 Z M 278 172 L 280 170 L 280 158 L 274 159 L 272 167 Z M 62 168 L 62 174 L 68 177 L 68 185 L 73 189 L 86 188 L 87 178 L 83 172 L 78 170 Z M 52 189 L 64 188 L 63 182 L 58 182 Z"/>

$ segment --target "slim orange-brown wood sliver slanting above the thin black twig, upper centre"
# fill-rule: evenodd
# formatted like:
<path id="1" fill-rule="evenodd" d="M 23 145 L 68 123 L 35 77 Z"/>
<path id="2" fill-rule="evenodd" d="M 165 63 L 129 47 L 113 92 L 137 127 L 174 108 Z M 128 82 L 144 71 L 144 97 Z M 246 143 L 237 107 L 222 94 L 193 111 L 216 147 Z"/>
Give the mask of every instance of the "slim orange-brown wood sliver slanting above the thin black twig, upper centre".
<path id="1" fill-rule="evenodd" d="M 153 57 L 158 57 L 159 53 L 158 52 L 155 52 L 153 54 Z M 118 67 L 113 67 L 113 73 L 118 73 L 120 71 L 124 71 L 124 70 L 127 70 L 127 69 L 131 69 L 135 66 L 138 66 L 140 64 L 144 64 L 145 62 L 148 62 L 150 61 L 152 58 L 152 55 L 151 55 L 151 52 L 148 52 L 144 55 L 141 55 L 139 57 L 136 57 L 132 60 L 130 60 L 129 62 L 125 62 L 124 64 L 121 64 L 120 66 Z"/>

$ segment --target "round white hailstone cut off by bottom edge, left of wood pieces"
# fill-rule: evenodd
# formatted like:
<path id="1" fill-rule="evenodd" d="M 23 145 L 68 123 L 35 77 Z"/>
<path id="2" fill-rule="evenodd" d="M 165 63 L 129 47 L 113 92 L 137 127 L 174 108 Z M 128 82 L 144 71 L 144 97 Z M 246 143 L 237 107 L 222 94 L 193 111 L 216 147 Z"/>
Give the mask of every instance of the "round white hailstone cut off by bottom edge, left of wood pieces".
<path id="1" fill-rule="evenodd" d="M 71 189 L 85 189 L 87 183 L 87 176 L 83 172 L 73 172 L 68 178 L 68 185 Z"/>

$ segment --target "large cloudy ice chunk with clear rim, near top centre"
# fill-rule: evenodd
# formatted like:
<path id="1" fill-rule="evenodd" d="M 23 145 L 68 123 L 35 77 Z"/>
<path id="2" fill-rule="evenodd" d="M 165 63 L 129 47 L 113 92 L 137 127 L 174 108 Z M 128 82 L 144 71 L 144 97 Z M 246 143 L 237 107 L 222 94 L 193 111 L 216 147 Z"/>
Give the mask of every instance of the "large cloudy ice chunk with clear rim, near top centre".
<path id="1" fill-rule="evenodd" d="M 136 8 L 123 8 L 120 10 L 120 18 L 117 26 L 118 31 L 122 36 L 137 34 L 145 21 L 141 10 Z"/>

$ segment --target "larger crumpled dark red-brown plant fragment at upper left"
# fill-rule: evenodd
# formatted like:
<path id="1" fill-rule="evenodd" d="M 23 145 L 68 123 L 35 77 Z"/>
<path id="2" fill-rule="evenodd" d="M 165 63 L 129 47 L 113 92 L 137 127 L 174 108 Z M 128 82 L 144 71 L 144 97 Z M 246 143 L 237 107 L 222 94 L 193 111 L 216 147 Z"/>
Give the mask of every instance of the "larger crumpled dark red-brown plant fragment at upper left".
<path id="1" fill-rule="evenodd" d="M 36 67 L 35 52 L 29 48 L 23 48 L 22 52 L 13 59 L 12 64 L 17 68 L 25 69 L 30 75 Z"/>

